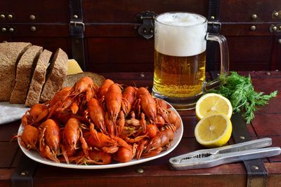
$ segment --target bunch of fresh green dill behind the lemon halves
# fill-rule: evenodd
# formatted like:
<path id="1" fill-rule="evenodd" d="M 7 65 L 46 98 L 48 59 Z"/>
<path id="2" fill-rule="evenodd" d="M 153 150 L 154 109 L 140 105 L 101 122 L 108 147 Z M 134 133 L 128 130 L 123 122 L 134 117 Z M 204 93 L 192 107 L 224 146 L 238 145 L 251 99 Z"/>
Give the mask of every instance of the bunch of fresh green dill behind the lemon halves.
<path id="1" fill-rule="evenodd" d="M 263 92 L 256 92 L 251 83 L 251 76 L 240 76 L 237 72 L 230 72 L 230 76 L 220 76 L 221 85 L 216 92 L 228 98 L 233 106 L 234 112 L 242 111 L 242 116 L 250 123 L 254 118 L 254 112 L 258 109 L 257 106 L 265 106 L 268 100 L 277 95 L 277 90 L 265 95 Z"/>

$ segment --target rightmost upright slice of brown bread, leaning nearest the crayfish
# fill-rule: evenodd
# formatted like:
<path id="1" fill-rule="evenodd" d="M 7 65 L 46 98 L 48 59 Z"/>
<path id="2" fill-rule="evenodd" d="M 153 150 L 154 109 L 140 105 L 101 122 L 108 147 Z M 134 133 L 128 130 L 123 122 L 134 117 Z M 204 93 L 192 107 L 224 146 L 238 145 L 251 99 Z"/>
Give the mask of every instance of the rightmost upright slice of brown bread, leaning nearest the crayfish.
<path id="1" fill-rule="evenodd" d="M 67 76 L 67 60 L 67 54 L 58 48 L 47 70 L 46 83 L 40 96 L 41 102 L 51 100 L 55 93 L 63 87 Z"/>

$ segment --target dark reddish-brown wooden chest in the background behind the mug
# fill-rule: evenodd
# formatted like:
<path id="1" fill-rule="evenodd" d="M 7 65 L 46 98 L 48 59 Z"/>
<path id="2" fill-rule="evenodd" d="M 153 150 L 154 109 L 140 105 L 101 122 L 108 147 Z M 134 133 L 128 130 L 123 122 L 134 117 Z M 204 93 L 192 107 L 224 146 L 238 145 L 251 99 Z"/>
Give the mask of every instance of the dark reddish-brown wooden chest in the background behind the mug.
<path id="1" fill-rule="evenodd" d="M 72 58 L 67 0 L 0 2 L 0 41 L 30 41 L 48 50 L 63 48 Z M 281 69 L 281 1 L 216 1 L 219 18 L 209 15 L 208 0 L 83 0 L 84 56 L 87 71 L 152 71 L 154 39 L 138 34 L 136 15 L 168 11 L 200 13 L 221 22 L 228 39 L 230 70 Z M 75 15 L 75 13 L 74 13 Z M 216 53 L 217 54 L 217 53 Z M 75 56 L 75 55 L 74 55 Z M 218 62 L 218 55 L 214 60 Z M 81 63 L 81 62 L 80 62 Z"/>

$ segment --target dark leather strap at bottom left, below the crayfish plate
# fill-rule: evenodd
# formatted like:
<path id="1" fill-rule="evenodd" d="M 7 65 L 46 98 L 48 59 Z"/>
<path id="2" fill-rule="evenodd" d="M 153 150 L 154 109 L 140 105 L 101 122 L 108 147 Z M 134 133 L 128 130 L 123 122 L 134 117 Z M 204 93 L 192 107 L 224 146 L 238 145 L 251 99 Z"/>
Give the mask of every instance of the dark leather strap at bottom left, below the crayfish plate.
<path id="1" fill-rule="evenodd" d="M 26 155 L 22 155 L 18 166 L 11 175 L 12 187 L 33 187 L 33 174 L 37 167 L 37 162 L 34 162 Z"/>

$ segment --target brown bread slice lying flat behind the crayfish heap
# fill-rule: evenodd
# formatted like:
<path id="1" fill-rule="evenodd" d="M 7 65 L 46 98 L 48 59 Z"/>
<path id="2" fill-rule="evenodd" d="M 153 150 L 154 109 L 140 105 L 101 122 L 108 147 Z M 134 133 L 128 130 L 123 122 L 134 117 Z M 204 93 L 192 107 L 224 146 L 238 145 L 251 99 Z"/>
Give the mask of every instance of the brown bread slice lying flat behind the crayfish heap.
<path id="1" fill-rule="evenodd" d="M 72 87 L 74 85 L 74 83 L 79 81 L 79 79 L 84 77 L 84 76 L 91 77 L 93 79 L 93 82 L 96 83 L 98 86 L 102 85 L 103 81 L 105 81 L 104 76 L 101 76 L 99 74 L 95 74 L 95 73 L 92 73 L 92 72 L 89 72 L 89 71 L 85 71 L 85 72 L 78 73 L 78 74 L 67 75 L 67 79 L 63 83 L 63 87 L 66 87 L 66 86 Z"/>

